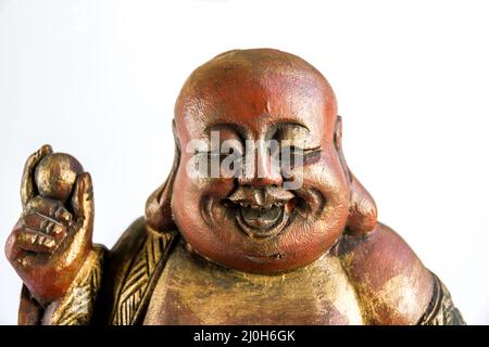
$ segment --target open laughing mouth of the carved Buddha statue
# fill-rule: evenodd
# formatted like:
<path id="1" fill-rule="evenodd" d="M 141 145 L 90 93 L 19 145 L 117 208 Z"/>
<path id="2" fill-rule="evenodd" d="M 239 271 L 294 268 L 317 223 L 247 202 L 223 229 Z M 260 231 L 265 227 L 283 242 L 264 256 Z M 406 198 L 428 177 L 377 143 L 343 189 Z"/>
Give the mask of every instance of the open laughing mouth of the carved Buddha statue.
<path id="1" fill-rule="evenodd" d="M 233 204 L 238 226 L 251 237 L 269 237 L 279 234 L 291 218 L 293 202 L 268 206 Z"/>

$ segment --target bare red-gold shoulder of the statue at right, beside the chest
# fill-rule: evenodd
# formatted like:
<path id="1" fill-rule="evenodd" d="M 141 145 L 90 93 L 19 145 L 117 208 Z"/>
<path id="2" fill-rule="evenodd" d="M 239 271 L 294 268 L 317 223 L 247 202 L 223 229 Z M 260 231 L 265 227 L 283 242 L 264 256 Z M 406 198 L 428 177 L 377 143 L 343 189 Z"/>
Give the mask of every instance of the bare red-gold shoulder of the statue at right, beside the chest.
<path id="1" fill-rule="evenodd" d="M 344 235 L 336 248 L 371 324 L 416 324 L 428 308 L 434 277 L 405 241 L 378 223 Z"/>

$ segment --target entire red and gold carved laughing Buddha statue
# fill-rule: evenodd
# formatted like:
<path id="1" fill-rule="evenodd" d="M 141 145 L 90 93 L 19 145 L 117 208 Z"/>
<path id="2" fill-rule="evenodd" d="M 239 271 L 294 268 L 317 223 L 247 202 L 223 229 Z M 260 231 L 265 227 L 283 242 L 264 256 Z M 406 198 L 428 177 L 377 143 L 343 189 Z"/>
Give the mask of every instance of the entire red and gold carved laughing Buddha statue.
<path id="1" fill-rule="evenodd" d="M 165 182 L 112 249 L 93 244 L 90 175 L 26 162 L 5 254 L 20 324 L 464 324 L 341 150 L 331 87 L 302 59 L 235 50 L 198 67 Z"/>

